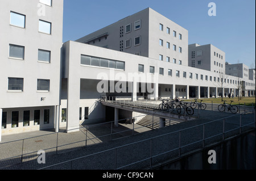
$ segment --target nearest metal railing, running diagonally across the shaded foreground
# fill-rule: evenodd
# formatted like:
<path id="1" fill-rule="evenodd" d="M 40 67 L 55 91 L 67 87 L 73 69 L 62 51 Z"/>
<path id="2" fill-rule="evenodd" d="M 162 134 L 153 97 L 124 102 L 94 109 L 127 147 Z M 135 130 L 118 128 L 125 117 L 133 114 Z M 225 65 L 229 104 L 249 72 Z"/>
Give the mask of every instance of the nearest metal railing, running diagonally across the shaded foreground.
<path id="1" fill-rule="evenodd" d="M 55 169 L 55 167 L 59 168 L 64 164 L 65 166 L 68 164 L 68 169 L 86 169 L 88 165 L 83 161 L 96 155 L 99 157 L 104 155 L 104 160 L 110 161 L 105 167 L 102 163 L 101 169 L 150 169 L 155 164 L 166 161 L 166 159 L 180 158 L 189 151 L 203 149 L 209 144 L 224 141 L 231 136 L 241 134 L 243 131 L 255 129 L 255 115 L 251 117 L 249 123 L 243 125 L 242 116 L 245 115 L 238 114 L 209 121 L 208 123 L 117 146 L 41 169 Z M 218 129 L 214 130 L 215 133 L 210 132 L 212 127 L 216 126 Z M 190 135 L 189 139 L 187 139 L 188 135 Z M 89 164 L 93 165 L 94 163 L 89 162 Z"/>

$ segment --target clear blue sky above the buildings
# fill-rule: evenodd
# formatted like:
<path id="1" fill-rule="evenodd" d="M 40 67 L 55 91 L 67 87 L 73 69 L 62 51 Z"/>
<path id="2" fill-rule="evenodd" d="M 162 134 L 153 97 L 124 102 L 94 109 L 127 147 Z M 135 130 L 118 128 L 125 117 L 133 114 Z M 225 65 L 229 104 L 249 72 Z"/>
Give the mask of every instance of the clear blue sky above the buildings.
<path id="1" fill-rule="evenodd" d="M 208 16 L 210 2 L 216 3 L 216 16 Z M 255 0 L 64 0 L 63 42 L 147 7 L 187 29 L 189 44 L 212 44 L 230 64 L 255 66 Z"/>

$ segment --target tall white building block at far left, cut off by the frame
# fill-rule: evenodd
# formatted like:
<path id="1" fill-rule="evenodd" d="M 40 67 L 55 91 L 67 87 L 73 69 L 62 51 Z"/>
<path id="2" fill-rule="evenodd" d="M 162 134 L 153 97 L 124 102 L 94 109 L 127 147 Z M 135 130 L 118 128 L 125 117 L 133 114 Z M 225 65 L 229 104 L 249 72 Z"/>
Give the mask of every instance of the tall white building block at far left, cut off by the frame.
<path id="1" fill-rule="evenodd" d="M 1 1 L 0 15 L 1 141 L 1 133 L 55 127 L 63 0 Z"/>

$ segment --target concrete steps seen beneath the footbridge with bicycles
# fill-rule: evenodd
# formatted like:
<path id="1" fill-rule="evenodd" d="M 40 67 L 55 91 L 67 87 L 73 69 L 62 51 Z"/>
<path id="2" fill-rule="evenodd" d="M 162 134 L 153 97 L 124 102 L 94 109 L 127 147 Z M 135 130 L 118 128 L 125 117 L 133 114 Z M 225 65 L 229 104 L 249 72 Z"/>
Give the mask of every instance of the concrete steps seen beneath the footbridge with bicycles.
<path id="1" fill-rule="evenodd" d="M 178 124 L 178 123 L 181 123 L 181 121 L 166 120 L 166 127 L 169 126 L 169 125 Z M 142 120 L 138 121 L 137 124 L 142 125 L 143 127 L 147 127 L 147 128 L 152 129 L 152 116 L 147 115 Z M 153 129 L 158 129 L 158 128 L 159 128 L 159 117 L 154 116 Z"/>

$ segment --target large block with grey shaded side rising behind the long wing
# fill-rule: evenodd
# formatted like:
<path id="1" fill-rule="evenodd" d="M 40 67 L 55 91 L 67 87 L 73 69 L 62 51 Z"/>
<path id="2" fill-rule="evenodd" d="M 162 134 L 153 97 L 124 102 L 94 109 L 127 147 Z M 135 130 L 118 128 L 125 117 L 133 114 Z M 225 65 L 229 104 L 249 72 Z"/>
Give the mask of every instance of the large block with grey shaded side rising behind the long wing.
<path id="1" fill-rule="evenodd" d="M 188 31 L 151 8 L 76 41 L 188 65 Z"/>

